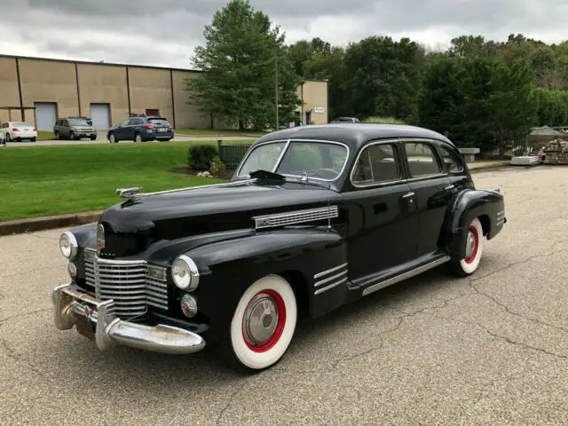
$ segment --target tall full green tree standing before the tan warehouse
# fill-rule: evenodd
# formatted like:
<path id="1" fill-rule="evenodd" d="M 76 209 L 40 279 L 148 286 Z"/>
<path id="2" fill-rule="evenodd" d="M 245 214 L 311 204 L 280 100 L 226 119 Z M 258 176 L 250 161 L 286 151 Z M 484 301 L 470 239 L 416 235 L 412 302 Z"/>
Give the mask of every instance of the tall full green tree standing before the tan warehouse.
<path id="1" fill-rule="evenodd" d="M 231 0 L 205 27 L 205 46 L 193 63 L 203 71 L 187 79 L 187 89 L 202 111 L 217 114 L 240 129 L 274 127 L 278 87 L 280 123 L 293 120 L 300 105 L 294 73 L 280 28 L 248 0 Z M 278 86 L 276 86 L 278 79 Z"/>

